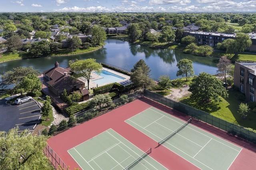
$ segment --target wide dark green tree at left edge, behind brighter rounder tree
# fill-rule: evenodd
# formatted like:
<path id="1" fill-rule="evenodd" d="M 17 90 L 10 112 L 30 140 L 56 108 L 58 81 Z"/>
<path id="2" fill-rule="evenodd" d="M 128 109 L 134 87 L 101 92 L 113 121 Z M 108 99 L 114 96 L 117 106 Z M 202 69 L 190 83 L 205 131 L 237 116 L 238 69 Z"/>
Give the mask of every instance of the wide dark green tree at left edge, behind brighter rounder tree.
<path id="1" fill-rule="evenodd" d="M 4 75 L 2 75 L 1 79 L 2 81 L 0 82 L 0 86 L 4 87 L 4 86 L 8 86 L 11 84 L 19 84 L 20 81 L 25 77 L 28 76 L 30 74 L 35 74 L 35 75 L 39 75 L 39 71 L 35 70 L 32 67 L 16 67 L 13 68 L 12 71 L 8 71 L 6 73 L 4 73 Z"/>

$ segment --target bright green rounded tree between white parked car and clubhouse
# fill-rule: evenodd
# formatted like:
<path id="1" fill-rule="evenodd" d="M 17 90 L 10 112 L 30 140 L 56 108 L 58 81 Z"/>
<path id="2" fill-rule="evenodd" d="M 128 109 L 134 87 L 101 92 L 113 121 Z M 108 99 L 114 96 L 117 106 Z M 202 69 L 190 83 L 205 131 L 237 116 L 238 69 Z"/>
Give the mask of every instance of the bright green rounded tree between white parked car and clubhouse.
<path id="1" fill-rule="evenodd" d="M 29 74 L 22 78 L 20 83 L 15 87 L 16 89 L 23 89 L 25 92 L 36 92 L 41 90 L 42 82 L 35 74 Z"/>

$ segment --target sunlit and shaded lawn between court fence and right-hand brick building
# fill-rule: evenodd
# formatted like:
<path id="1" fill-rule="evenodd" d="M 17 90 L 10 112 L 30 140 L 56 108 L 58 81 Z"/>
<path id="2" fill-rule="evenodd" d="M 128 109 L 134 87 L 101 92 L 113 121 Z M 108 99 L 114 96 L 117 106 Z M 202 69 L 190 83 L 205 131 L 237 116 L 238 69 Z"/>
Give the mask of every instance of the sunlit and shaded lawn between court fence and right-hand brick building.
<path id="1" fill-rule="evenodd" d="M 241 116 L 237 113 L 239 104 L 243 102 L 242 94 L 237 91 L 229 91 L 228 94 L 228 98 L 222 98 L 222 102 L 214 102 L 212 105 L 204 104 L 203 106 L 198 106 L 198 104 L 196 104 L 196 102 L 189 97 L 183 98 L 180 100 L 180 102 L 206 111 L 211 115 L 214 115 L 215 117 L 221 118 L 228 122 L 256 129 L 255 112 L 250 111 L 246 119 L 242 119 Z"/>

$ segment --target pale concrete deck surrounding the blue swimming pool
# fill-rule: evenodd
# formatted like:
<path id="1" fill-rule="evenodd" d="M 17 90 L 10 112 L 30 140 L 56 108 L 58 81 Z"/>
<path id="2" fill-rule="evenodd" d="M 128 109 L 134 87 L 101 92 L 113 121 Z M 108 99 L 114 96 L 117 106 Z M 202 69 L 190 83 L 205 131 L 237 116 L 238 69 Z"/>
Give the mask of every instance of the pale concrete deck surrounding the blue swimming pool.
<path id="1" fill-rule="evenodd" d="M 120 72 L 117 72 L 117 71 L 115 71 L 115 70 L 112 70 L 112 69 L 109 69 L 109 68 L 106 68 L 106 67 L 103 67 L 102 70 L 106 70 L 106 71 L 108 71 L 108 72 L 111 72 L 111 73 L 113 73 L 113 74 L 116 74 L 116 75 L 118 75 L 118 76 L 121 76 L 121 77 L 125 78 L 125 79 L 120 80 L 120 81 L 117 81 L 117 82 L 123 82 L 123 81 L 126 81 L 126 80 L 129 80 L 129 79 L 130 79 L 130 76 L 128 76 L 128 75 L 123 74 L 123 73 L 120 73 Z M 93 81 L 102 78 L 102 76 L 99 76 L 99 75 L 95 74 L 94 72 L 92 72 L 91 77 L 92 77 L 92 78 L 90 78 L 89 86 L 90 86 L 90 88 L 95 88 L 95 87 L 97 87 L 97 84 L 96 84 L 95 82 L 93 82 Z M 87 86 L 87 80 L 86 80 L 85 78 L 80 77 L 80 78 L 78 78 L 78 79 L 81 80 L 82 82 L 84 82 L 84 83 L 85 83 L 85 86 Z M 98 85 L 98 87 L 104 86 L 104 85 L 106 85 L 106 84 L 110 84 L 110 83 L 109 83 L 109 82 L 106 82 L 106 83 L 104 83 L 104 84 Z"/>

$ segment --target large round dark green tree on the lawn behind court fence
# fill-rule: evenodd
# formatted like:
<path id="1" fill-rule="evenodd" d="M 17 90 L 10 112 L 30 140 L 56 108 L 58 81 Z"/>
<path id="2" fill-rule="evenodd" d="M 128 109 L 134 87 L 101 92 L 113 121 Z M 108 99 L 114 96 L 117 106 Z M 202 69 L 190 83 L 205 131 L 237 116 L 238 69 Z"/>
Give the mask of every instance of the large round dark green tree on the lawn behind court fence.
<path id="1" fill-rule="evenodd" d="M 199 76 L 193 78 L 188 91 L 192 92 L 190 97 L 196 100 L 198 104 L 211 101 L 220 102 L 221 98 L 219 96 L 228 97 L 228 92 L 223 87 L 222 82 L 206 72 L 202 72 Z"/>

